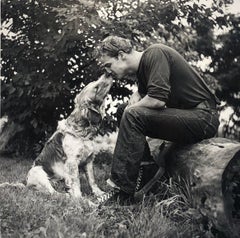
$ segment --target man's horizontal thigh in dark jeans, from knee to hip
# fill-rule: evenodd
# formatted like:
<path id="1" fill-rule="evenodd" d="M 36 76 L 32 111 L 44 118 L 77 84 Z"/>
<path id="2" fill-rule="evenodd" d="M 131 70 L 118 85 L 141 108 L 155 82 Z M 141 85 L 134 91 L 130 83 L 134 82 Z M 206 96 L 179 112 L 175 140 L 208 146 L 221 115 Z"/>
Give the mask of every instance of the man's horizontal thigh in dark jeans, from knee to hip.
<path id="1" fill-rule="evenodd" d="M 136 109 L 142 116 L 146 136 L 177 143 L 194 143 L 204 139 L 211 113 L 203 110 Z"/>

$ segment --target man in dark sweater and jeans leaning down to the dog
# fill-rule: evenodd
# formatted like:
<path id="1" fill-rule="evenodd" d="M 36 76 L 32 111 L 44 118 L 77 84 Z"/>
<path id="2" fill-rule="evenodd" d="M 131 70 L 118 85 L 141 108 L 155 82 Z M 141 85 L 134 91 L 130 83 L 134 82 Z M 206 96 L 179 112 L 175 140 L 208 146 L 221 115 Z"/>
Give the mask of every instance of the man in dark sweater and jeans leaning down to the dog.
<path id="1" fill-rule="evenodd" d="M 141 162 L 147 160 L 145 137 L 178 144 L 213 137 L 219 126 L 218 99 L 186 60 L 163 44 L 140 52 L 128 39 L 109 36 L 101 43 L 100 62 L 118 80 L 130 74 L 137 77 L 138 90 L 121 117 L 113 155 L 108 183 L 114 189 L 105 200 L 132 198 Z M 152 174 L 155 180 L 148 188 L 161 169 Z"/>

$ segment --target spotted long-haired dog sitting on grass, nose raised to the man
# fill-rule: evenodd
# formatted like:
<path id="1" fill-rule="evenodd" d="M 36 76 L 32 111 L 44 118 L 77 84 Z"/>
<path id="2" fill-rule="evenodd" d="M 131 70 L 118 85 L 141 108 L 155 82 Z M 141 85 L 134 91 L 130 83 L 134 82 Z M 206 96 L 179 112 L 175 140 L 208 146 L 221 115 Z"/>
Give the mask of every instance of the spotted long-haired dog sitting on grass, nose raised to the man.
<path id="1" fill-rule="evenodd" d="M 58 122 L 56 132 L 46 142 L 28 172 L 27 186 L 53 194 L 57 191 L 51 180 L 61 179 L 71 197 L 83 198 L 79 180 L 79 168 L 83 168 L 93 194 L 104 194 L 94 179 L 93 159 L 104 150 L 97 131 L 105 112 L 104 99 L 112 83 L 112 77 L 104 74 L 85 86 L 75 97 L 73 112 L 67 119 Z"/>

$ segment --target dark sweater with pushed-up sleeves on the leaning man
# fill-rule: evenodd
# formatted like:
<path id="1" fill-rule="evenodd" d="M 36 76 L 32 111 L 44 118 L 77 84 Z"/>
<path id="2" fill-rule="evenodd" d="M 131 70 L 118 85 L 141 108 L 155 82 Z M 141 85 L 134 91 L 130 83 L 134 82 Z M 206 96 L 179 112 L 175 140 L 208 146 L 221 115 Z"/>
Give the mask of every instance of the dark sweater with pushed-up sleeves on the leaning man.
<path id="1" fill-rule="evenodd" d="M 142 96 L 164 101 L 167 107 L 193 108 L 208 101 L 218 103 L 201 76 L 174 49 L 155 44 L 147 48 L 137 71 Z"/>

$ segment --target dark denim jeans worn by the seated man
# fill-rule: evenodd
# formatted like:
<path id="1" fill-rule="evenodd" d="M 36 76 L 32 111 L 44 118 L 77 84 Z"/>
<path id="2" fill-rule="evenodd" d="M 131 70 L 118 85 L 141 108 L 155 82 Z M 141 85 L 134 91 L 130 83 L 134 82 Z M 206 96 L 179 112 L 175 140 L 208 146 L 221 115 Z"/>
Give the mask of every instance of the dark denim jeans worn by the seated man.
<path id="1" fill-rule="evenodd" d="M 146 136 L 178 144 L 191 144 L 213 137 L 219 126 L 215 109 L 125 107 L 126 104 L 117 111 L 119 133 L 110 179 L 130 194 L 135 191 L 143 156 L 149 153 Z"/>

